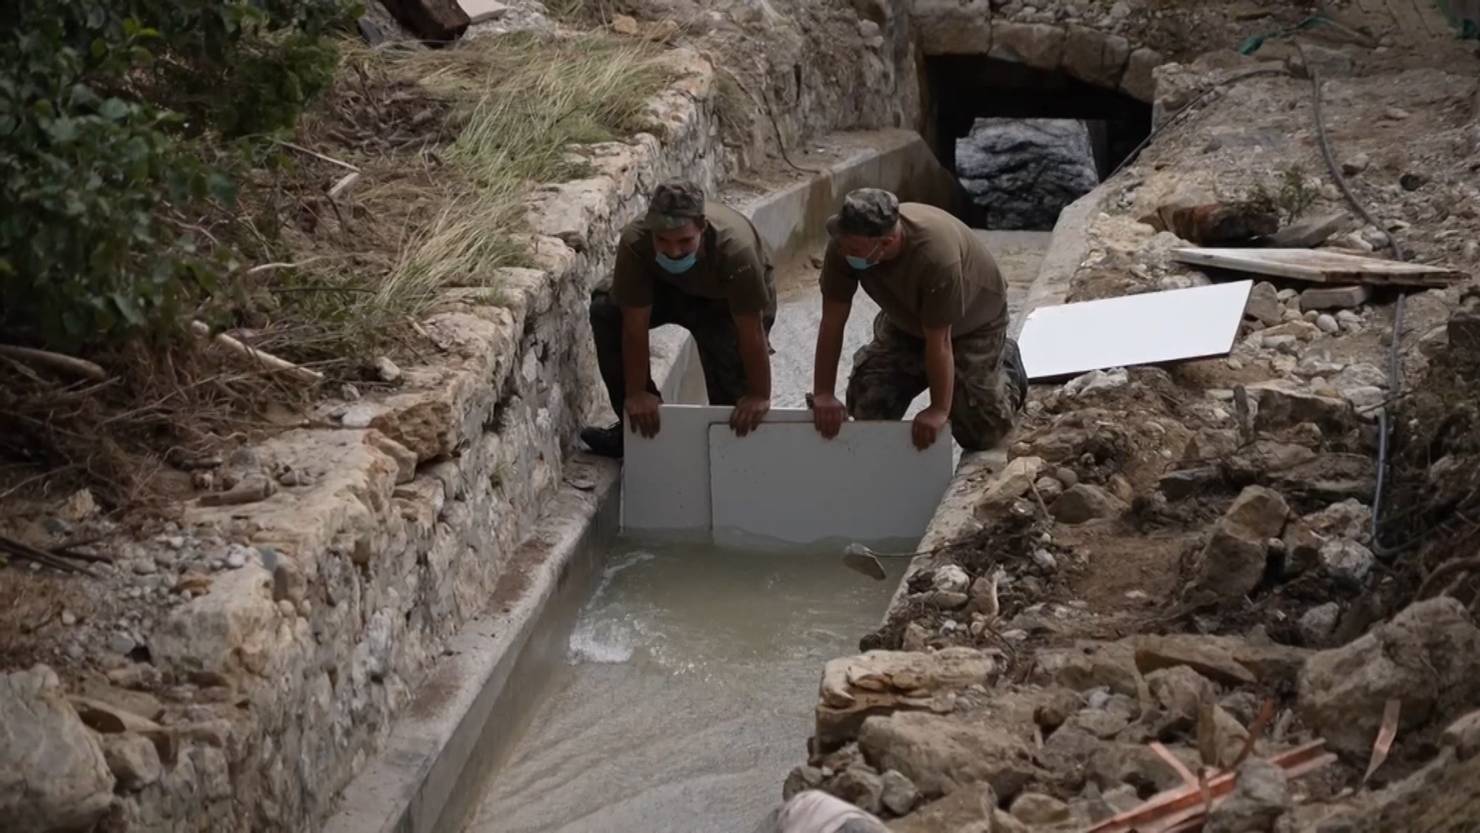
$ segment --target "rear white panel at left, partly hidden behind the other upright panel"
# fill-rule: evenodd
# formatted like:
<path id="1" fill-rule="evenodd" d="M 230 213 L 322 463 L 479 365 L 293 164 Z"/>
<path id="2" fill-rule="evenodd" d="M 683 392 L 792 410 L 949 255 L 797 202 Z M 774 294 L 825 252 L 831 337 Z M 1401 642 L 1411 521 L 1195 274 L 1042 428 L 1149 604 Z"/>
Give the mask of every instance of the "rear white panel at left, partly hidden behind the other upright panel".
<path id="1" fill-rule="evenodd" d="M 730 405 L 663 405 L 648 439 L 630 429 L 622 462 L 622 528 L 639 533 L 709 530 L 709 426 L 730 431 Z M 807 408 L 773 408 L 771 423 L 811 423 Z"/>

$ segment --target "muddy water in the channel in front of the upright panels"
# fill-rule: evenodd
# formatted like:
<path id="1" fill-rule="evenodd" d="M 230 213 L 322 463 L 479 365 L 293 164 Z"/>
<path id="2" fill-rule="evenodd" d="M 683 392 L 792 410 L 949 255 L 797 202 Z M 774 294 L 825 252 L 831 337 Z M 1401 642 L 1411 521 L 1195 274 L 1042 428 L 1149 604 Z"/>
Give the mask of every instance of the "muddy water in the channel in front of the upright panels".
<path id="1" fill-rule="evenodd" d="M 805 759 L 826 660 L 878 624 L 836 549 L 619 543 L 469 833 L 747 833 Z"/>

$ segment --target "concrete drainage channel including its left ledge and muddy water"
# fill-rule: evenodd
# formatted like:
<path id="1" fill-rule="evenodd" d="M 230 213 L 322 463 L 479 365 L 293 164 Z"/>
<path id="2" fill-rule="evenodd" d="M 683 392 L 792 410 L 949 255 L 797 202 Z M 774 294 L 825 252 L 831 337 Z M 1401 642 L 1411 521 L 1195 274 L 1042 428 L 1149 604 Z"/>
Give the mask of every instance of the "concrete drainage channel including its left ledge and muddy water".
<path id="1" fill-rule="evenodd" d="M 867 145 L 746 207 L 778 262 L 814 252 L 821 220 L 857 186 L 959 206 L 959 185 L 916 135 L 872 133 Z M 654 345 L 666 399 L 681 401 L 699 373 L 691 345 L 681 333 Z M 571 462 L 488 611 L 451 641 L 327 832 L 746 830 L 776 803 L 823 661 L 879 621 L 897 577 L 869 584 L 830 552 L 619 543 L 619 479 L 605 460 Z M 950 493 L 929 537 L 949 505 Z M 573 645 L 586 672 L 573 670 Z M 573 747 L 605 747 L 608 765 Z"/>

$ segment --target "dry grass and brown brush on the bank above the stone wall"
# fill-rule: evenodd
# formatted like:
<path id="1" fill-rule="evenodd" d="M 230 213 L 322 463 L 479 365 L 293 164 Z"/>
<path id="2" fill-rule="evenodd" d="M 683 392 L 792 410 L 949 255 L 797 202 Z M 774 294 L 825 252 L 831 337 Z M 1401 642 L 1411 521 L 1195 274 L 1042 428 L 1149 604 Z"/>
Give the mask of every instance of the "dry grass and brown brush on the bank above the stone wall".
<path id="1" fill-rule="evenodd" d="M 528 260 L 524 195 L 585 173 L 573 145 L 645 127 L 669 80 L 662 50 L 595 33 L 443 50 L 343 44 L 333 89 L 295 136 L 314 154 L 263 154 L 235 210 L 200 220 L 247 263 L 197 315 L 323 370 L 330 391 L 376 385 L 366 358 L 420 358 L 411 321 L 444 289 L 488 287 L 497 302 L 496 271 Z M 321 157 L 360 169 L 351 194 L 329 197 L 348 169 Z M 166 459 L 299 423 L 311 398 L 195 342 L 92 358 L 110 382 L 0 360 L 0 500 L 80 485 L 110 509 L 185 496 L 189 475 Z"/>

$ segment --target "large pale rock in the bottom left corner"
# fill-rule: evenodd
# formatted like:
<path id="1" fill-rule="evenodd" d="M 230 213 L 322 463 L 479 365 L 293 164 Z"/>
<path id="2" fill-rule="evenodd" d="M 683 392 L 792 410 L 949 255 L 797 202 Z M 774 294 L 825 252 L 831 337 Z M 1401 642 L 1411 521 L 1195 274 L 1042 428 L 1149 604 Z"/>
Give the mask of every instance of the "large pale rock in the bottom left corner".
<path id="1" fill-rule="evenodd" d="M 0 818 L 6 830 L 90 830 L 112 774 L 46 666 L 0 675 Z"/>

